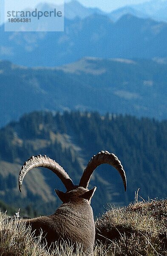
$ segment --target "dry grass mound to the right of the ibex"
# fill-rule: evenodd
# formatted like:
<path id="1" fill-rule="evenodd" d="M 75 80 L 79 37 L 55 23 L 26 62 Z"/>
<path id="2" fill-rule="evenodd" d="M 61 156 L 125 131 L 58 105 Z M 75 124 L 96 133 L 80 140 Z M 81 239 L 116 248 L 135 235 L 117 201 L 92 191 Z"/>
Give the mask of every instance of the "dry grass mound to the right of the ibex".
<path id="1" fill-rule="evenodd" d="M 96 240 L 110 256 L 167 256 L 167 200 L 110 209 L 96 221 Z"/>

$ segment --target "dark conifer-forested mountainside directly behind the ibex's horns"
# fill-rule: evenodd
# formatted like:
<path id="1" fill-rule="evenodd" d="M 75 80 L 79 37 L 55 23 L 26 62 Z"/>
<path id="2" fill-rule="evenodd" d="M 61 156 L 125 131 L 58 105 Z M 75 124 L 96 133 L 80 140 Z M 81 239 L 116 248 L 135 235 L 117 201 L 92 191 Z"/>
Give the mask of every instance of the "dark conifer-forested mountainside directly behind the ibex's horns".
<path id="1" fill-rule="evenodd" d="M 14 207 L 31 205 L 39 214 L 54 212 L 59 204 L 54 189 L 65 191 L 55 175 L 46 169 L 30 171 L 17 187 L 21 165 L 31 155 L 46 154 L 56 160 L 75 184 L 90 158 L 100 150 L 115 153 L 127 175 L 127 192 L 112 167 L 99 166 L 90 188 L 97 186 L 92 199 L 96 215 L 103 205 L 126 205 L 135 191 L 145 199 L 167 195 L 167 121 L 137 119 L 133 116 L 99 113 L 33 112 L 0 129 L 0 199 Z"/>

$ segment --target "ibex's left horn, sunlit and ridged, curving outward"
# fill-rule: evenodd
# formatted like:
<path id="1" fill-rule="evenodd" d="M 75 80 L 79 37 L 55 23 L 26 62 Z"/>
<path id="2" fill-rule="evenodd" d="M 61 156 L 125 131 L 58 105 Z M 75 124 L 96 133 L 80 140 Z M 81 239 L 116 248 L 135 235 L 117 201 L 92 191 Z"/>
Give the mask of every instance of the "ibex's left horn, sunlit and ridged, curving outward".
<path id="1" fill-rule="evenodd" d="M 74 187 L 74 183 L 71 180 L 71 178 L 68 176 L 68 174 L 65 172 L 65 170 L 54 160 L 44 156 L 32 156 L 30 159 L 27 160 L 27 162 L 24 163 L 22 166 L 22 169 L 19 173 L 19 190 L 21 192 L 21 187 L 23 183 L 23 179 L 27 172 L 29 172 L 31 169 L 35 167 L 45 167 L 50 169 L 52 172 L 54 172 L 62 181 L 62 183 L 65 185 L 67 190 L 70 190 Z"/>

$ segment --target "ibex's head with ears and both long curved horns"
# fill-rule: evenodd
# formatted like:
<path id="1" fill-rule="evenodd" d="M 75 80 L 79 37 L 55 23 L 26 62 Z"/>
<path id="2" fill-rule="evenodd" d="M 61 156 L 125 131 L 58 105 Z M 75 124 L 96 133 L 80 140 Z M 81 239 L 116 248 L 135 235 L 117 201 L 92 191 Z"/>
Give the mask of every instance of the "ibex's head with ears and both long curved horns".
<path id="1" fill-rule="evenodd" d="M 67 189 L 65 193 L 62 191 L 59 191 L 58 189 L 55 189 L 55 192 L 57 193 L 58 197 L 63 203 L 71 200 L 76 200 L 76 198 L 85 198 L 85 199 L 88 199 L 88 201 L 90 202 L 96 190 L 96 187 L 94 187 L 91 190 L 88 189 L 91 175 L 93 171 L 96 169 L 96 167 L 101 165 L 102 163 L 108 163 L 111 166 L 116 168 L 116 170 L 119 172 L 119 174 L 122 177 L 125 191 L 126 191 L 127 181 L 126 181 L 126 175 L 125 175 L 123 166 L 119 161 L 119 159 L 116 157 L 116 155 L 113 153 L 110 154 L 108 151 L 101 151 L 91 158 L 91 160 L 89 161 L 88 165 L 86 166 L 82 174 L 79 185 L 74 185 L 73 181 L 65 172 L 65 170 L 61 166 L 59 166 L 59 164 L 56 163 L 55 160 L 52 160 L 46 155 L 44 156 L 39 155 L 36 157 L 32 156 L 30 159 L 28 159 L 27 162 L 24 163 L 20 171 L 19 189 L 21 192 L 23 179 L 27 174 L 27 172 L 29 172 L 31 169 L 35 167 L 45 167 L 50 169 L 52 172 L 54 172 L 60 178 L 62 183 L 65 185 Z"/>

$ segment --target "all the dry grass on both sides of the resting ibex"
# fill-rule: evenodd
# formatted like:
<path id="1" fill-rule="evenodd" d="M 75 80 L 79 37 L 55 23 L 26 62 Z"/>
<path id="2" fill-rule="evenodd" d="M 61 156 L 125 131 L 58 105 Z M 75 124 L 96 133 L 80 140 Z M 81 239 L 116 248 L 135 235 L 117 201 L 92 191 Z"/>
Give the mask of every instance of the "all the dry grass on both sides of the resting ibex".
<path id="1" fill-rule="evenodd" d="M 84 256 L 68 244 L 49 252 L 24 223 L 0 214 L 1 256 Z M 167 200 L 136 202 L 96 220 L 94 256 L 167 256 Z"/>

